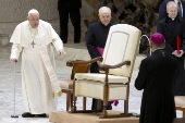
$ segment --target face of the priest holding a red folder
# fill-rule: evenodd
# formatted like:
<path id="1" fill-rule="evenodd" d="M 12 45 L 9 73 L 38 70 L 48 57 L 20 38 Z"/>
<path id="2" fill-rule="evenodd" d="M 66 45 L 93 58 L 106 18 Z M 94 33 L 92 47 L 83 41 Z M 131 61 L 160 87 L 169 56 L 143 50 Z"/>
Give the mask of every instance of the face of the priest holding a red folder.
<path id="1" fill-rule="evenodd" d="M 169 13 L 169 17 L 175 19 L 177 15 L 177 5 L 169 5 L 166 13 Z"/>

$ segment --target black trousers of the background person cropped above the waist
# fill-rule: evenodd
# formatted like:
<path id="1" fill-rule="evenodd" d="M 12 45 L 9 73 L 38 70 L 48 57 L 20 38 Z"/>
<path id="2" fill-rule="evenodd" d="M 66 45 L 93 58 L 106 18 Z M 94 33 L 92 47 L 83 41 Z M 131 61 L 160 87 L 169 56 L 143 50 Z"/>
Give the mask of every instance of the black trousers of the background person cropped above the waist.
<path id="1" fill-rule="evenodd" d="M 81 41 L 81 13 L 79 9 L 69 9 L 67 7 L 59 10 L 60 17 L 60 38 L 64 44 L 67 42 L 69 15 L 74 27 L 74 42 Z"/>

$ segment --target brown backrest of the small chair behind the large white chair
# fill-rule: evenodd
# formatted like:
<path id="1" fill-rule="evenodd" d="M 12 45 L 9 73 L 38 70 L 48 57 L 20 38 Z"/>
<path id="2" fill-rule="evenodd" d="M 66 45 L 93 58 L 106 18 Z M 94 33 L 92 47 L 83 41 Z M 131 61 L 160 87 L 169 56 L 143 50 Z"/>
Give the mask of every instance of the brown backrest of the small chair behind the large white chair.
<path id="1" fill-rule="evenodd" d="M 76 60 L 76 61 L 82 61 L 82 60 Z M 88 73 L 90 69 L 90 63 L 88 64 L 74 64 L 72 67 L 72 73 L 71 73 L 71 79 L 74 79 L 74 75 L 76 73 Z"/>

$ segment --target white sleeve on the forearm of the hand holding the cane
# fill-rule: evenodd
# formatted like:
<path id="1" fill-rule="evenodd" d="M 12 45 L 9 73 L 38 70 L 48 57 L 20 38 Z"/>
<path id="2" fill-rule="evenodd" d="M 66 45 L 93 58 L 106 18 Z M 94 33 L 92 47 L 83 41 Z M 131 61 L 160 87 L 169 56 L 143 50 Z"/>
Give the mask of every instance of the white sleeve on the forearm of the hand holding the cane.
<path id="1" fill-rule="evenodd" d="M 11 49 L 10 59 L 18 60 L 20 52 L 22 51 L 22 46 L 20 44 L 13 44 Z"/>

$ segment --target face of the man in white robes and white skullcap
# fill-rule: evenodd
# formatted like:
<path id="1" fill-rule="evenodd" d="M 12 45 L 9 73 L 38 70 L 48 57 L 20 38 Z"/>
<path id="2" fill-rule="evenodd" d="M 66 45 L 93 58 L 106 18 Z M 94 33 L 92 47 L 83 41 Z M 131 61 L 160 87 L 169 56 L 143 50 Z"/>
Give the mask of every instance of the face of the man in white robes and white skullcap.
<path id="1" fill-rule="evenodd" d="M 38 24 L 39 24 L 39 14 L 38 13 L 29 14 L 29 16 L 27 16 L 27 20 L 29 21 L 29 24 L 33 28 L 38 27 Z"/>

